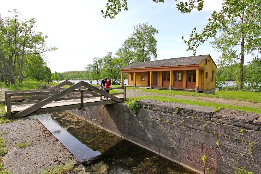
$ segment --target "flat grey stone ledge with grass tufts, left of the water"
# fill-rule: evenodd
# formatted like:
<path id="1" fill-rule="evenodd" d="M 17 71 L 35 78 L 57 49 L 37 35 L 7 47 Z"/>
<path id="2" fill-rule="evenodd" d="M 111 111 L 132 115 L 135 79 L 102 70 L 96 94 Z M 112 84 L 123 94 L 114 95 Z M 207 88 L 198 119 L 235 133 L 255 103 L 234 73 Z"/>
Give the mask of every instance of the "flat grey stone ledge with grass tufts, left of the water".
<path id="1" fill-rule="evenodd" d="M 40 173 L 71 161 L 70 173 L 85 173 L 82 164 L 37 119 L 18 120 L 0 125 L 7 153 L 3 165 L 13 173 Z"/>

